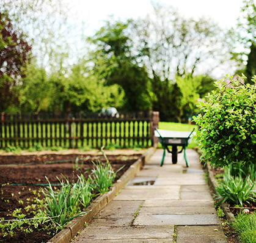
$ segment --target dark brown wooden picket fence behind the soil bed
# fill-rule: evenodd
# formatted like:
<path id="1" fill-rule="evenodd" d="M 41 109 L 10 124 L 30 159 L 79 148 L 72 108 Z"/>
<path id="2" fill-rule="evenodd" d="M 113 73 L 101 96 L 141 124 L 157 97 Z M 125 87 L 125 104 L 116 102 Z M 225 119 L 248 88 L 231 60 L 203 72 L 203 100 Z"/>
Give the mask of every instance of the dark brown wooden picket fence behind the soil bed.
<path id="1" fill-rule="evenodd" d="M 111 143 L 122 148 L 156 146 L 154 128 L 159 112 L 100 114 L 0 114 L 0 148 L 9 145 L 99 148 Z"/>

